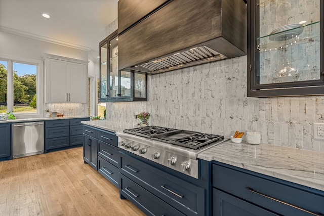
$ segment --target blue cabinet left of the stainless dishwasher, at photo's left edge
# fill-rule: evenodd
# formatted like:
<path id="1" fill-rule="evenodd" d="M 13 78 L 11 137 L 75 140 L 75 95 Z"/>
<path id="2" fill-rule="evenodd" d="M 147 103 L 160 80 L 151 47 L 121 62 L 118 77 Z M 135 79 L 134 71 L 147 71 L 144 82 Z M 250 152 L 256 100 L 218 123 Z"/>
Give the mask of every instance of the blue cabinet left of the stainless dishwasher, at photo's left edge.
<path id="1" fill-rule="evenodd" d="M 8 160 L 11 158 L 11 124 L 0 124 L 0 161 Z"/>

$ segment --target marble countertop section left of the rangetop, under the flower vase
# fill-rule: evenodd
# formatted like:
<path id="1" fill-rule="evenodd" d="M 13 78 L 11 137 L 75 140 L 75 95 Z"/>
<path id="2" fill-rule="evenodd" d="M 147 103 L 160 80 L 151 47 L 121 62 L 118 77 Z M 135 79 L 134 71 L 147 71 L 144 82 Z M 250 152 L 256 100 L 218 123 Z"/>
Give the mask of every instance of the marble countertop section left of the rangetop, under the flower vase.
<path id="1" fill-rule="evenodd" d="M 110 121 L 110 120 L 81 121 L 81 123 L 87 124 L 89 126 L 97 127 L 100 129 L 104 129 L 106 131 L 110 131 L 113 133 L 121 132 L 124 129 L 135 127 L 131 122 L 120 122 L 120 121 Z"/>

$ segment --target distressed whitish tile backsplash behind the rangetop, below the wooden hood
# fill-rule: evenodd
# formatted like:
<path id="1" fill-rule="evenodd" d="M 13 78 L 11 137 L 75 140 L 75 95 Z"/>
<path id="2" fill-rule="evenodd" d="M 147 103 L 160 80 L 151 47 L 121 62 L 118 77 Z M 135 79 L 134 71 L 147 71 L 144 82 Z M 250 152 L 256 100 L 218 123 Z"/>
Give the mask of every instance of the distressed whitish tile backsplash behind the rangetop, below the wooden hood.
<path id="1" fill-rule="evenodd" d="M 129 121 L 136 111 L 149 111 L 152 125 L 226 137 L 252 125 L 263 143 L 324 151 L 312 138 L 324 97 L 248 98 L 247 56 L 148 76 L 148 102 L 107 103 L 108 119 Z"/>

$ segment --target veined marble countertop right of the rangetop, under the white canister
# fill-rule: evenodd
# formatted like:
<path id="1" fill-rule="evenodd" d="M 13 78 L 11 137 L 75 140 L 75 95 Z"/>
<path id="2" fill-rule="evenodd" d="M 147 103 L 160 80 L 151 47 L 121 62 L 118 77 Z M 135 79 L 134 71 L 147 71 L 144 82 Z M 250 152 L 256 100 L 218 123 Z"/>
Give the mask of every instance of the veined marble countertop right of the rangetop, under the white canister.
<path id="1" fill-rule="evenodd" d="M 324 152 L 226 141 L 197 157 L 324 191 Z"/>

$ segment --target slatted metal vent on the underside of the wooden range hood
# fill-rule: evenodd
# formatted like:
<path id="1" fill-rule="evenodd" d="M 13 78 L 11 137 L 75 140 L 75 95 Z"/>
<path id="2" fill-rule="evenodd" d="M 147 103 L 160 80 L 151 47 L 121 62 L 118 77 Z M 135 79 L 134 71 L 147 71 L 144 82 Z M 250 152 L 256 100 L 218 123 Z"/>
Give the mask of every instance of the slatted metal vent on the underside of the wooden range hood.
<path id="1" fill-rule="evenodd" d="M 170 70 L 180 69 L 181 67 L 189 67 L 198 63 L 203 64 L 225 58 L 227 57 L 216 52 L 215 50 L 207 46 L 201 46 L 192 48 L 182 53 L 176 53 L 172 56 L 137 65 L 135 67 L 132 67 L 131 70 L 151 74 L 162 73 Z"/>

